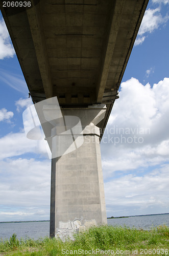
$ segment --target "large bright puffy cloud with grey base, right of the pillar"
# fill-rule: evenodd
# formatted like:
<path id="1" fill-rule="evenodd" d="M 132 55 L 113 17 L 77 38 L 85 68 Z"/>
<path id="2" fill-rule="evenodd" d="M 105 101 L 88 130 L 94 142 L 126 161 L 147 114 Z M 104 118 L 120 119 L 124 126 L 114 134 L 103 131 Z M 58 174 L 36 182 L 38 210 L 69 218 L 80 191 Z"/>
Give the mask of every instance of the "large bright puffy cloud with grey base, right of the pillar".
<path id="1" fill-rule="evenodd" d="M 105 178 L 169 161 L 169 78 L 152 88 L 131 78 L 119 96 L 101 142 Z"/>

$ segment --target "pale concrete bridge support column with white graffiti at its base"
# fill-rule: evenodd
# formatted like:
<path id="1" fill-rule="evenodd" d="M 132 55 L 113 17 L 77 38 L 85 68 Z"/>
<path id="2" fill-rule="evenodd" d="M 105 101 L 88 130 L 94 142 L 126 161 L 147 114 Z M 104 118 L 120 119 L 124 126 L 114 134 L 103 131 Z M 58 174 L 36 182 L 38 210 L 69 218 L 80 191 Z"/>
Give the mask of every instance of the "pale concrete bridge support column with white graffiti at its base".
<path id="1" fill-rule="evenodd" d="M 52 159 L 50 236 L 64 240 L 67 236 L 73 238 L 74 233 L 90 225 L 107 223 L 100 130 L 95 126 L 104 118 L 106 106 L 97 104 L 61 111 L 63 118 L 79 117 L 82 127 L 82 133 L 77 134 L 77 129 L 71 129 L 71 134 L 64 133 L 64 140 L 60 137 L 62 134 L 52 142 L 54 151 L 56 147 L 55 154 L 62 148 L 61 141 L 67 143 L 72 136 L 76 147 L 74 151 Z M 65 123 L 65 131 L 68 126 Z M 80 136 L 83 142 L 78 147 L 76 139 Z"/>

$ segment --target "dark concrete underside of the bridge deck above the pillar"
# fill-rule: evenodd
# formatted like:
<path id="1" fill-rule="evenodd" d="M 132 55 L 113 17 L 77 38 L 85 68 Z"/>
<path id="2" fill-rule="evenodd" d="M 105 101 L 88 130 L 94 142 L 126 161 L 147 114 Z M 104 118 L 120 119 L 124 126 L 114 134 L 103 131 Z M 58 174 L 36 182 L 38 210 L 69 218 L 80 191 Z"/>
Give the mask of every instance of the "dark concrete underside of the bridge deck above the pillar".
<path id="1" fill-rule="evenodd" d="M 148 0 L 30 2 L 0 6 L 33 102 L 105 103 L 104 131 Z"/>

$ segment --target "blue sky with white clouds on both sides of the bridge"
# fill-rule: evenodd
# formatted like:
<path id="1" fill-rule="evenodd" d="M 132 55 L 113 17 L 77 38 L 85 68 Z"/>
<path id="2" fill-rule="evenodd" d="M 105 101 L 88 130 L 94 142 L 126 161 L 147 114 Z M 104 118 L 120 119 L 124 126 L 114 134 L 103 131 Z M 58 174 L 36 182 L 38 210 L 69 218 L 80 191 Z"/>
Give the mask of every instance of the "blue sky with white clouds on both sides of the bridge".
<path id="1" fill-rule="evenodd" d="M 107 216 L 169 212 L 169 0 L 151 0 L 101 142 Z M 50 218 L 51 160 L 28 140 L 28 89 L 0 15 L 0 221 Z"/>

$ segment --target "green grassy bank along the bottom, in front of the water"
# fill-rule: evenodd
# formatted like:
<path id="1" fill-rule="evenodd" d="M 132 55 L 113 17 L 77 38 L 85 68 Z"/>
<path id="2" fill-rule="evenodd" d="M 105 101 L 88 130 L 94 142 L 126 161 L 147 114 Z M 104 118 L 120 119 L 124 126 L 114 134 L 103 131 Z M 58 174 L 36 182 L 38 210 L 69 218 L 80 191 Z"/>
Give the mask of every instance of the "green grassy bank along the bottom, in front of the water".
<path id="1" fill-rule="evenodd" d="M 101 251 L 102 250 L 102 251 Z M 92 227 L 75 241 L 21 239 L 13 236 L 0 242 L 0 255 L 169 255 L 169 228 L 151 231 L 128 227 Z"/>

